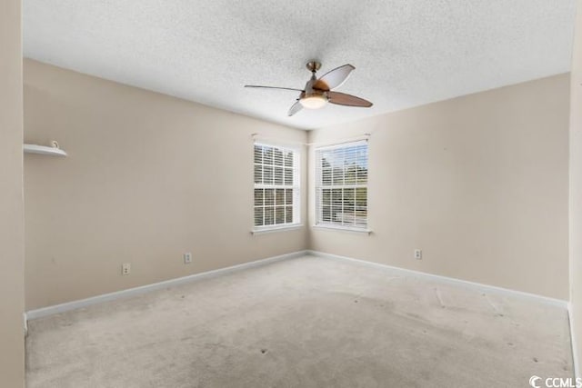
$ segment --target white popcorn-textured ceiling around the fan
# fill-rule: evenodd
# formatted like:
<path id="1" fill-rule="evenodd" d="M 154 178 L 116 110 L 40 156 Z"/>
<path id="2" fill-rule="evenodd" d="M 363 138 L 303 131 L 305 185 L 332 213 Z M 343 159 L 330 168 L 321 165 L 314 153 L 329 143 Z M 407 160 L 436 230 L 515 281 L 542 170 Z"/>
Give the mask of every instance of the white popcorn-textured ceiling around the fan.
<path id="1" fill-rule="evenodd" d="M 570 69 L 575 0 L 24 0 L 25 56 L 300 128 Z M 374 107 L 287 117 L 305 64 Z"/>

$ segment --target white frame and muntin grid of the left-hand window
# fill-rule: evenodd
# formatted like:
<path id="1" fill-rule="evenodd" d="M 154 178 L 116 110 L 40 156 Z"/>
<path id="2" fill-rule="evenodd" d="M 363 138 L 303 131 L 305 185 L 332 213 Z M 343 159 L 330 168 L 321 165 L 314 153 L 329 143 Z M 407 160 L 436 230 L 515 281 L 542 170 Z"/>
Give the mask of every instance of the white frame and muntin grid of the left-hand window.
<path id="1" fill-rule="evenodd" d="M 263 147 L 263 150 L 265 148 L 272 148 L 273 150 L 280 150 L 283 153 L 283 164 L 282 165 L 277 165 L 275 163 L 275 154 L 273 154 L 273 164 L 265 164 L 265 160 L 263 159 L 261 161 L 261 163 L 258 163 L 261 165 L 261 176 L 262 176 L 262 181 L 260 183 L 256 182 L 256 147 Z M 264 152 L 264 151 L 263 151 Z M 286 162 L 285 162 L 285 154 L 286 153 L 292 153 L 293 154 L 293 165 L 292 166 L 286 166 Z M 265 155 L 263 154 L 262 157 L 264 157 Z M 265 180 L 265 166 L 271 165 L 273 167 L 272 169 L 272 173 L 273 174 L 273 184 L 265 184 L 264 180 Z M 278 168 L 282 168 L 283 171 L 283 175 L 282 175 L 282 184 L 275 184 L 275 180 L 276 180 L 276 167 Z M 292 179 L 293 179 L 293 183 L 292 184 L 286 184 L 286 170 L 292 170 L 293 174 L 292 174 Z M 298 227 L 300 227 L 301 224 L 301 148 L 296 146 L 296 145 L 290 145 L 290 144 L 276 144 L 276 143 L 270 143 L 270 142 L 260 142 L 260 141 L 255 141 L 253 144 L 253 229 L 252 232 L 253 234 L 257 234 L 257 233 L 263 233 L 263 232 L 276 232 L 279 230 L 291 230 L 291 229 L 296 229 Z M 266 204 L 266 195 L 265 192 L 263 192 L 263 204 L 262 205 L 258 205 L 256 202 L 256 190 L 257 189 L 264 189 L 264 190 L 274 190 L 273 193 L 273 205 L 267 205 Z M 287 191 L 288 189 L 292 190 L 292 203 L 291 204 L 287 204 L 286 203 L 286 195 L 287 195 Z M 291 207 L 291 211 L 292 211 L 292 219 L 293 221 L 291 223 L 276 223 L 276 208 L 277 207 L 281 207 L 281 205 L 277 206 L 276 205 L 276 198 L 277 196 L 277 191 L 278 190 L 285 190 L 285 200 L 284 200 L 284 204 L 282 205 L 284 207 L 284 209 L 286 207 Z M 271 207 L 273 206 L 273 221 L 274 224 L 265 224 L 265 220 L 266 220 L 266 206 Z M 262 207 L 263 208 L 263 224 L 261 225 L 256 225 L 256 209 Z M 285 211 L 285 210 L 284 210 Z M 286 212 L 286 211 L 285 211 Z M 285 213 L 285 217 L 286 217 L 286 213 Z"/>

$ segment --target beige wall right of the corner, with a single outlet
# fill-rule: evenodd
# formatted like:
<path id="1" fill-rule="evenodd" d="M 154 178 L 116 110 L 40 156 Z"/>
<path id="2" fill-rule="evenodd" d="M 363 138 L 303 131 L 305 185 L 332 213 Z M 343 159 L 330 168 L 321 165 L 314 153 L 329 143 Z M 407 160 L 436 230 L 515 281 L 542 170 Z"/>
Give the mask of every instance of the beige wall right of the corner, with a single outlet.
<path id="1" fill-rule="evenodd" d="M 314 229 L 312 249 L 567 300 L 568 91 L 557 75 L 311 132 L 372 134 L 374 232 Z"/>

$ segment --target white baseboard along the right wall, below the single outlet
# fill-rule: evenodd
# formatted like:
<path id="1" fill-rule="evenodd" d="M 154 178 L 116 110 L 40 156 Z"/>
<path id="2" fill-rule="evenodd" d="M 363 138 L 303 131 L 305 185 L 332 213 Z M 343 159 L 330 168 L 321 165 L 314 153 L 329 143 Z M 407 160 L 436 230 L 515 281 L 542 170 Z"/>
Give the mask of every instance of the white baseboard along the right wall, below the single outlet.
<path id="1" fill-rule="evenodd" d="M 447 283 L 447 284 L 457 284 L 457 285 L 463 284 L 465 286 L 477 289 L 479 291 L 487 291 L 488 293 L 511 294 L 514 296 L 522 297 L 522 298 L 535 299 L 535 300 L 542 302 L 542 303 L 554 304 L 554 305 L 557 305 L 557 306 L 562 307 L 564 309 L 567 309 L 567 301 L 564 301 L 561 299 L 550 298 L 550 297 L 543 296 L 543 295 L 538 295 L 536 293 L 524 293 L 522 291 L 510 290 L 510 289 L 503 288 L 503 287 L 497 287 L 495 285 L 474 283 L 474 282 L 469 282 L 467 280 L 461 280 L 461 279 L 457 279 L 457 278 L 453 278 L 453 277 L 442 276 L 439 274 L 428 274 L 428 273 L 423 273 L 423 272 L 419 272 L 419 271 L 408 270 L 406 268 L 395 267 L 395 266 L 388 265 L 388 264 L 379 264 L 379 263 L 374 263 L 374 262 L 368 262 L 366 260 L 354 259 L 352 257 L 340 256 L 337 254 L 326 254 L 324 252 L 311 251 L 311 250 L 307 251 L 307 254 L 311 254 L 314 256 L 318 256 L 318 257 L 324 257 L 324 258 L 328 258 L 328 259 L 334 259 L 334 260 L 356 262 L 358 264 L 365 264 L 365 265 L 372 266 L 375 268 L 389 269 L 390 271 L 393 271 L 393 272 L 399 272 L 401 274 L 407 274 L 407 275 L 412 275 L 412 276 L 416 276 L 416 277 L 424 277 L 427 279 L 437 280 L 439 282 L 443 282 L 443 283 Z"/>

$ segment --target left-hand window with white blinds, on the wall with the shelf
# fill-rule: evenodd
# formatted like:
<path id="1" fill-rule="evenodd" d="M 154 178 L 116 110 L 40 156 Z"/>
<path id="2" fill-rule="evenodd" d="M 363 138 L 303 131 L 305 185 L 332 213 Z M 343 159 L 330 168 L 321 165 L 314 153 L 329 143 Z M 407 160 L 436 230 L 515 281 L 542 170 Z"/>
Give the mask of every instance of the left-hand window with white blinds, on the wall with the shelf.
<path id="1" fill-rule="evenodd" d="M 299 224 L 296 149 L 255 144 L 255 229 Z"/>

